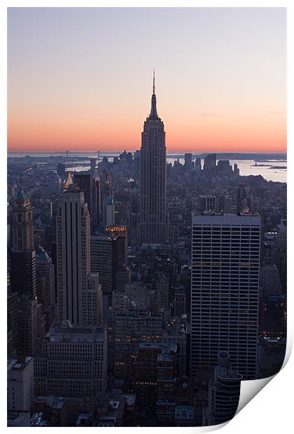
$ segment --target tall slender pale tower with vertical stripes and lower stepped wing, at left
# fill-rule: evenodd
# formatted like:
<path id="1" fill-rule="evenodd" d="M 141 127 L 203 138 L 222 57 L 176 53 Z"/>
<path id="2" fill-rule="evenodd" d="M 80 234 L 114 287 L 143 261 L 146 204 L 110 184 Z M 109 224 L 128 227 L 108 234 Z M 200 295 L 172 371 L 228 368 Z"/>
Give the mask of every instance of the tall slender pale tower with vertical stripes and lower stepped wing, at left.
<path id="1" fill-rule="evenodd" d="M 56 226 L 59 321 L 92 323 L 92 318 L 99 312 L 100 288 L 97 279 L 89 278 L 90 214 L 83 191 L 75 186 L 69 186 L 62 194 Z M 95 282 L 97 297 L 93 295 Z"/>

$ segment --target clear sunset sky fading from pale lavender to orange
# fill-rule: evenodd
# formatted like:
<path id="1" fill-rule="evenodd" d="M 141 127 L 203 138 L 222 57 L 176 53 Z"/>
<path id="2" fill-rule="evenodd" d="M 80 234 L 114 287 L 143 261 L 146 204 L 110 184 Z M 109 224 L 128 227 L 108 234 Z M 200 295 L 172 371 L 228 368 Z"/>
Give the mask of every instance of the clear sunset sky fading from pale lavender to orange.
<path id="1" fill-rule="evenodd" d="M 8 151 L 286 152 L 286 8 L 8 8 Z"/>

